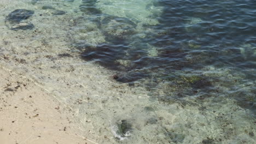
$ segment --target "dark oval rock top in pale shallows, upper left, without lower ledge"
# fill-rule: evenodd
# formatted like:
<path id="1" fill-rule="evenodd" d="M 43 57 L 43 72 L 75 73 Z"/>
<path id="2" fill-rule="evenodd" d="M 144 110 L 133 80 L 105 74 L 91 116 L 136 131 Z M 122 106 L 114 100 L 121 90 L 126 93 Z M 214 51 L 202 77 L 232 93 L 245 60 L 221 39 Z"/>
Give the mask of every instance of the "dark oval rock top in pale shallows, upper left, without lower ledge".
<path id="1" fill-rule="evenodd" d="M 22 20 L 28 19 L 28 17 L 34 14 L 33 10 L 27 9 L 16 9 L 11 12 L 5 19 L 6 22 L 18 23 Z"/>

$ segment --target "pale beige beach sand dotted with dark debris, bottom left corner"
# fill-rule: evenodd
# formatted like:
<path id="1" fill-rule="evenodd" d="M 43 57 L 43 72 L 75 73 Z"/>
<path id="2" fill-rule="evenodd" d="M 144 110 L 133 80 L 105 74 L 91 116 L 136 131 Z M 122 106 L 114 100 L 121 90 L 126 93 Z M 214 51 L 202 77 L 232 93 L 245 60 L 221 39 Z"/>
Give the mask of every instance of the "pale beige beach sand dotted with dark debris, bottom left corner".
<path id="1" fill-rule="evenodd" d="M 0 143 L 94 143 L 72 111 L 26 77 L 0 67 Z"/>

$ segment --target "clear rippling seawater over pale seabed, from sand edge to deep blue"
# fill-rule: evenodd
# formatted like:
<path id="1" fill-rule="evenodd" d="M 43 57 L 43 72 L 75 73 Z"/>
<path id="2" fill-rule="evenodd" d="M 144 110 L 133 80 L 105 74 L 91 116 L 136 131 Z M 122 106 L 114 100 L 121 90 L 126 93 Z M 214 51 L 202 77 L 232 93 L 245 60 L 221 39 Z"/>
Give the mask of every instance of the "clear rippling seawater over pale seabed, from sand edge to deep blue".
<path id="1" fill-rule="evenodd" d="M 69 107 L 95 143 L 255 143 L 255 5 L 4 0 L 1 65 Z M 34 11 L 21 21 L 31 29 L 14 31 L 15 9 Z"/>

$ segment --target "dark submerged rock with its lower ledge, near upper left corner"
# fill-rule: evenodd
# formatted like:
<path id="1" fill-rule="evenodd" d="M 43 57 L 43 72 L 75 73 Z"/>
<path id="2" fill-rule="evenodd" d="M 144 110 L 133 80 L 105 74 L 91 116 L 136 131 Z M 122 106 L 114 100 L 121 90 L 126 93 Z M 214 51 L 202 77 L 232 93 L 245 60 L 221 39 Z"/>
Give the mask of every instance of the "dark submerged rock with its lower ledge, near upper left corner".
<path id="1" fill-rule="evenodd" d="M 14 31 L 27 30 L 34 28 L 34 25 L 29 22 L 25 22 L 30 16 L 34 14 L 33 10 L 16 9 L 11 12 L 5 19 L 5 25 Z"/>

